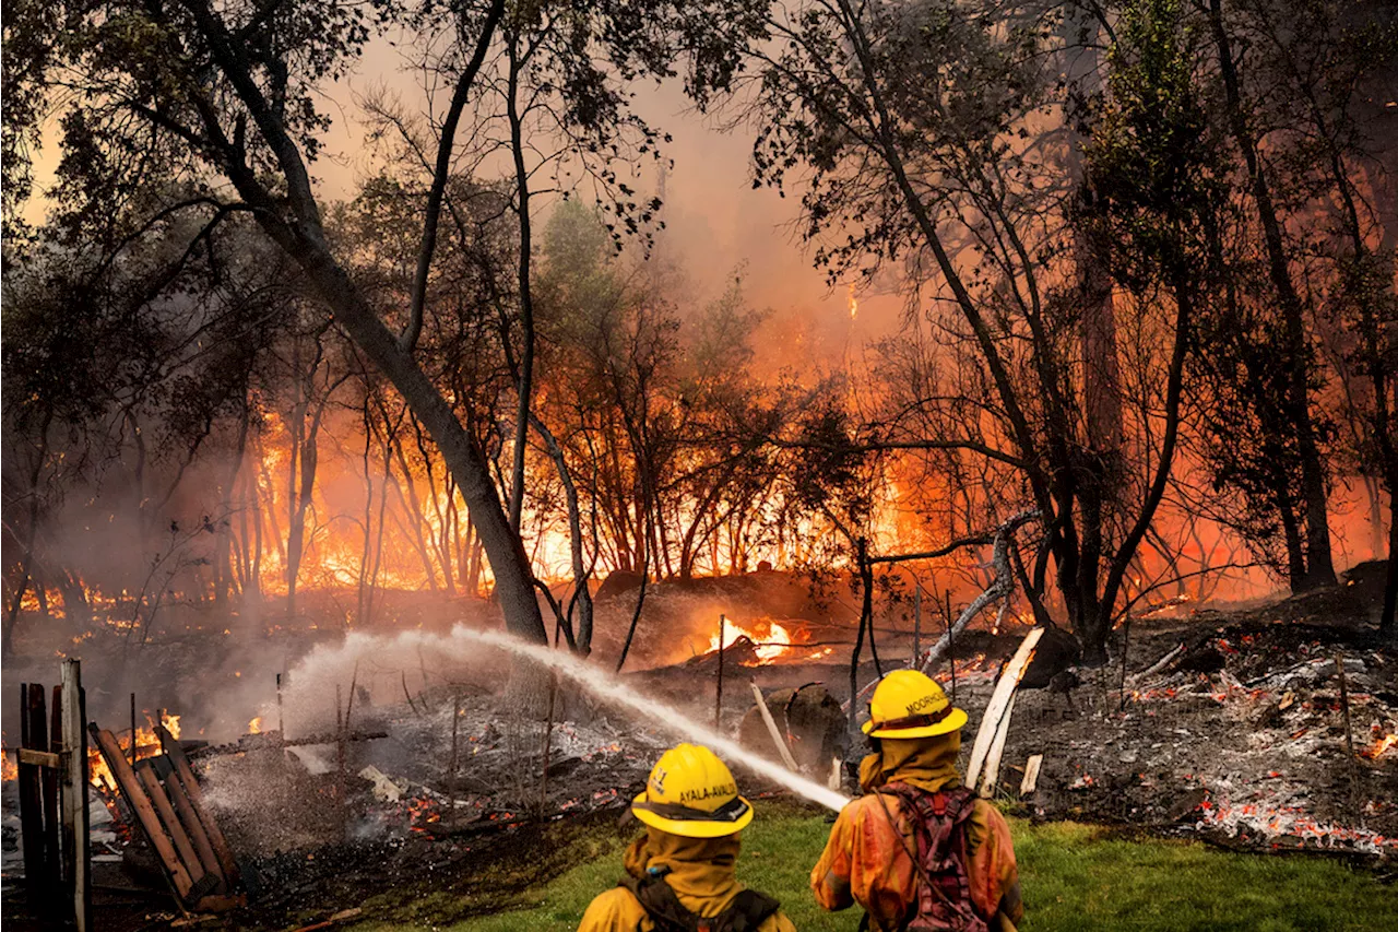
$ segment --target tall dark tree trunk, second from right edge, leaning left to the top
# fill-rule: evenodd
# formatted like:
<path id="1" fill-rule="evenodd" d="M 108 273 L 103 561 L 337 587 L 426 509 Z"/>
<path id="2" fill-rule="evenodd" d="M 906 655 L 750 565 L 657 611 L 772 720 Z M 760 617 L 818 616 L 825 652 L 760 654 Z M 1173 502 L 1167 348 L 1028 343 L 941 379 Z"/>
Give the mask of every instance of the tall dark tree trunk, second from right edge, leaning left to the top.
<path id="1" fill-rule="evenodd" d="M 1302 494 L 1304 497 L 1306 525 L 1306 577 L 1304 589 L 1335 585 L 1335 565 L 1329 544 L 1329 500 L 1325 490 L 1325 467 L 1321 463 L 1320 444 L 1310 410 L 1310 346 L 1306 339 L 1306 319 L 1300 295 L 1292 281 L 1282 239 L 1281 223 L 1272 203 L 1267 171 L 1257 151 L 1243 112 L 1241 87 L 1232 43 L 1223 22 L 1222 0 L 1209 0 L 1209 21 L 1213 28 L 1213 42 L 1218 46 L 1219 71 L 1223 77 L 1225 105 L 1233 139 L 1247 164 L 1253 186 L 1253 202 L 1262 224 L 1262 239 L 1267 243 L 1268 273 L 1276 290 L 1282 311 L 1282 327 L 1286 336 L 1289 396 L 1288 409 L 1296 425 L 1296 441 L 1302 463 Z"/>

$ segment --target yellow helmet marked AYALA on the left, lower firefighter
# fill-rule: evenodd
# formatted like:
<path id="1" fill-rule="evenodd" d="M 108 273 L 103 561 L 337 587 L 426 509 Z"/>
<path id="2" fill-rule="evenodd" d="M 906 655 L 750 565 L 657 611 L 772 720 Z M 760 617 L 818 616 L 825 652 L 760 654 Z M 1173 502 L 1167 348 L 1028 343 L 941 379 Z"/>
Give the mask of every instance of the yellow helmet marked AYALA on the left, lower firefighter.
<path id="1" fill-rule="evenodd" d="M 630 810 L 651 828 L 686 838 L 721 838 L 752 821 L 752 806 L 738 795 L 733 771 L 699 744 L 661 754 Z"/>

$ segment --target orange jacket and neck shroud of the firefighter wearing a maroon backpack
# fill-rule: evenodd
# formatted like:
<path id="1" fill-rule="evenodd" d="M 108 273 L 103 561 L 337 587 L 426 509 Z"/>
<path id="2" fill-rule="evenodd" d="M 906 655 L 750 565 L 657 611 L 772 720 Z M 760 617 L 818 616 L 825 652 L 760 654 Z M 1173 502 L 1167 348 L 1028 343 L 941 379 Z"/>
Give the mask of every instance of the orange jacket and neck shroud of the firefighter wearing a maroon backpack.
<path id="1" fill-rule="evenodd" d="M 907 852 L 917 851 L 917 840 L 900 800 L 882 796 L 885 812 L 874 789 L 886 782 L 905 782 L 928 792 L 959 786 L 959 732 L 885 739 L 879 754 L 864 758 L 860 782 L 867 795 L 853 800 L 836 819 L 825 854 L 811 872 L 811 890 L 821 907 L 833 911 L 858 903 L 870 915 L 872 932 L 895 932 L 913 918 L 920 880 Z M 1009 824 L 986 800 L 976 802 L 966 821 L 966 875 L 976 912 L 993 932 L 1014 932 L 1023 919 L 1019 869 Z"/>

